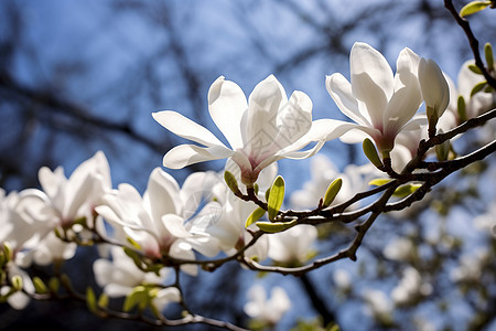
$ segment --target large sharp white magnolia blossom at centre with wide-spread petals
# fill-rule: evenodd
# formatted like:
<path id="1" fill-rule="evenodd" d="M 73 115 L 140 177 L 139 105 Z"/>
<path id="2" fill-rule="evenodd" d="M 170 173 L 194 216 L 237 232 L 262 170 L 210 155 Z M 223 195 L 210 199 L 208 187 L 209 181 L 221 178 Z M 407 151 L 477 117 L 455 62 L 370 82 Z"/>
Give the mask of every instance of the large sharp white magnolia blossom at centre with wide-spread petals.
<path id="1" fill-rule="evenodd" d="M 255 87 L 248 102 L 237 84 L 220 76 L 208 90 L 208 111 L 230 148 L 181 114 L 170 110 L 153 114 L 168 130 L 205 146 L 181 145 L 171 149 L 163 158 L 165 167 L 180 169 L 196 162 L 231 158 L 241 170 L 242 183 L 251 185 L 270 163 L 283 158 L 309 158 L 323 145 L 322 137 L 310 134 L 312 102 L 309 96 L 295 90 L 288 99 L 273 75 Z M 321 141 L 312 149 L 300 151 L 317 140 Z"/>

